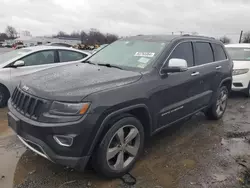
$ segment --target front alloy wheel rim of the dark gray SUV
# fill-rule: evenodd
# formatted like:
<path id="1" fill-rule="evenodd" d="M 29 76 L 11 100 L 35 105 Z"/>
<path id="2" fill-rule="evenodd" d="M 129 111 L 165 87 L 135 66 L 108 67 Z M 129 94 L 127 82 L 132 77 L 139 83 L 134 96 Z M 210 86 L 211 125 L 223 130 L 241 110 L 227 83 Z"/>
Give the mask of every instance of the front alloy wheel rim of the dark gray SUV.
<path id="1" fill-rule="evenodd" d="M 133 125 L 121 127 L 112 137 L 106 152 L 109 167 L 120 171 L 130 165 L 140 147 L 140 134 Z"/>

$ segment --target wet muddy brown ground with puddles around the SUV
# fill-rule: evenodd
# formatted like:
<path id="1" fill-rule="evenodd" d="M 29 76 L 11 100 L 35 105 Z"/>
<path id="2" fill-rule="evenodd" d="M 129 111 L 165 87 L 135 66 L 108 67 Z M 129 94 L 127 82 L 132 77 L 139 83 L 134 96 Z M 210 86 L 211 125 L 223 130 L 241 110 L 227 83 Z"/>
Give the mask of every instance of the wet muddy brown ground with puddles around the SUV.
<path id="1" fill-rule="evenodd" d="M 243 188 L 249 186 L 250 100 L 232 96 L 220 121 L 202 113 L 152 137 L 127 178 L 106 180 L 91 168 L 76 172 L 26 150 L 0 109 L 0 187 Z M 135 183 L 135 185 L 128 184 Z M 132 181 L 132 182 L 131 182 Z"/>

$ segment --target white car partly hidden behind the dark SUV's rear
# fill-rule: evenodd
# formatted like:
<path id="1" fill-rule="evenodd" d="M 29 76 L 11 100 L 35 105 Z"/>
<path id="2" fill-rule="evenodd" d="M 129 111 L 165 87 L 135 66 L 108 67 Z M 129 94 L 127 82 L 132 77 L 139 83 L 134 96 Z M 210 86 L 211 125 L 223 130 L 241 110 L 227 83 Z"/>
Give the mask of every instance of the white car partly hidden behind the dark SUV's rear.
<path id="1" fill-rule="evenodd" d="M 233 59 L 233 91 L 250 97 L 250 44 L 228 44 L 226 49 Z"/>

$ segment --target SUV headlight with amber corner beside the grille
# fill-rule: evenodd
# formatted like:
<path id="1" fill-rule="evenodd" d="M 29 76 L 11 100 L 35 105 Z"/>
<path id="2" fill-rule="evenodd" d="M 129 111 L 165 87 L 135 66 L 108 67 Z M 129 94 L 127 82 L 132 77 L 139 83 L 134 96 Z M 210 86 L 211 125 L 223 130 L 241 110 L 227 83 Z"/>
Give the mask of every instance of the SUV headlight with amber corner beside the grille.
<path id="1" fill-rule="evenodd" d="M 87 112 L 89 103 L 64 103 L 54 101 L 49 110 L 54 115 L 83 115 Z"/>

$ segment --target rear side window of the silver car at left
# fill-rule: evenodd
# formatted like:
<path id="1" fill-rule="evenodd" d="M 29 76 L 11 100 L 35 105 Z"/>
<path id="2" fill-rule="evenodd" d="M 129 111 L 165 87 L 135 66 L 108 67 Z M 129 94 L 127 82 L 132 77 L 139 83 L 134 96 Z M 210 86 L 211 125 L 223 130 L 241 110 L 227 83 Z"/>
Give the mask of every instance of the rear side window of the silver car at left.
<path id="1" fill-rule="evenodd" d="M 60 62 L 77 61 L 85 58 L 87 55 L 70 50 L 59 50 Z"/>

